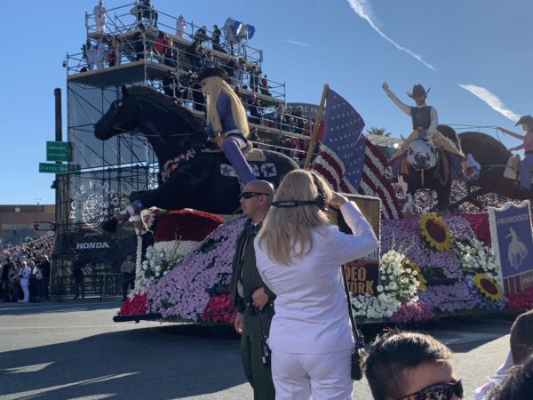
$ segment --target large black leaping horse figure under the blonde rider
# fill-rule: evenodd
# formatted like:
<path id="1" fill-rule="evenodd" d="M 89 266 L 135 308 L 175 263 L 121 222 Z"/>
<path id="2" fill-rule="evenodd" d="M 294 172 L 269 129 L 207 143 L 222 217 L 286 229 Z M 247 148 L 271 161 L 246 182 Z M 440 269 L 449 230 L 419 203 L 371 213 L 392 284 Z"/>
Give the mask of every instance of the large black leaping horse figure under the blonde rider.
<path id="1" fill-rule="evenodd" d="M 169 174 L 158 188 L 131 193 L 144 208 L 193 208 L 230 214 L 239 208 L 239 181 L 224 153 L 205 137 L 203 121 L 171 97 L 144 86 L 123 86 L 95 124 L 94 135 L 107 140 L 139 128 L 155 151 L 160 172 Z M 256 150 L 254 150 L 256 151 Z M 250 162 L 256 176 L 277 186 L 283 175 L 298 168 L 290 157 L 263 150 L 264 159 Z M 166 165 L 166 167 L 165 167 Z"/>

